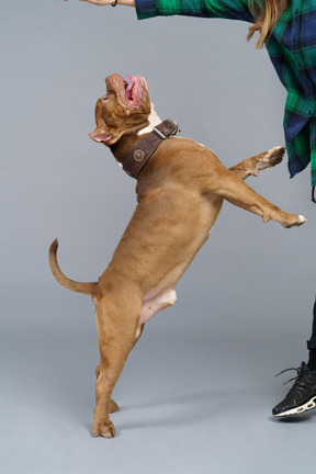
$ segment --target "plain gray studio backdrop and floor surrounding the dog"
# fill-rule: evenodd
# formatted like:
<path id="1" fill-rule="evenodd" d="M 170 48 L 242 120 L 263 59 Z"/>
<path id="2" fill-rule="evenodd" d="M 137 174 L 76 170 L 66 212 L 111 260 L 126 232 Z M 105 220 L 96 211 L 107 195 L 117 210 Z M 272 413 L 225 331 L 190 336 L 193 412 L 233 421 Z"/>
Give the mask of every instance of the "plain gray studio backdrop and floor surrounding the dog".
<path id="1" fill-rule="evenodd" d="M 135 205 L 135 182 L 88 137 L 112 72 L 147 78 L 161 119 L 237 161 L 283 144 L 285 91 L 246 23 L 139 22 L 134 9 L 61 0 L 1 5 L 1 472 L 314 473 L 316 418 L 274 421 L 306 359 L 315 296 L 309 169 L 248 183 L 308 222 L 286 230 L 226 204 L 115 388 L 117 438 L 90 435 L 98 364 L 89 297 Z M 314 244 L 314 245 L 313 245 Z M 286 376 L 285 376 L 286 380 Z"/>

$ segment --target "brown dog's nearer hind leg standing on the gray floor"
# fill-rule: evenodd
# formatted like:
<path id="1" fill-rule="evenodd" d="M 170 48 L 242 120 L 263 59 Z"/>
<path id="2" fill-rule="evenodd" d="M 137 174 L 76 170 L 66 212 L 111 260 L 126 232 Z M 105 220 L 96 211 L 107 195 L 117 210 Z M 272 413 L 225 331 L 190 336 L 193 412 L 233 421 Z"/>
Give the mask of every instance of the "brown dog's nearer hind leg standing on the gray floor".
<path id="1" fill-rule="evenodd" d="M 92 427 L 94 437 L 113 438 L 115 428 L 109 413 L 115 410 L 112 392 L 124 368 L 128 353 L 135 345 L 135 335 L 140 317 L 140 304 L 133 298 L 103 297 L 97 304 L 98 343 L 100 363 L 97 368 L 95 409 Z M 117 301 L 120 304 L 117 304 Z"/>

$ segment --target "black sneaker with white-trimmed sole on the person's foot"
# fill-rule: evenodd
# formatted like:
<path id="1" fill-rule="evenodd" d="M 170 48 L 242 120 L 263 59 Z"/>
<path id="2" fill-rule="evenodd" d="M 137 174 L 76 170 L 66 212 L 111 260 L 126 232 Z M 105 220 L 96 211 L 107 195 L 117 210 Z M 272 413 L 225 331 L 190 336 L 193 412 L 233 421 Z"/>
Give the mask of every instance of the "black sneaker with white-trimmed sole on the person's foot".
<path id="1" fill-rule="evenodd" d="M 286 369 L 283 372 L 287 370 L 296 370 L 297 376 L 291 379 L 295 380 L 294 385 L 285 398 L 272 409 L 275 417 L 300 415 L 316 407 L 316 371 L 311 372 L 305 362 L 302 362 L 298 369 Z"/>

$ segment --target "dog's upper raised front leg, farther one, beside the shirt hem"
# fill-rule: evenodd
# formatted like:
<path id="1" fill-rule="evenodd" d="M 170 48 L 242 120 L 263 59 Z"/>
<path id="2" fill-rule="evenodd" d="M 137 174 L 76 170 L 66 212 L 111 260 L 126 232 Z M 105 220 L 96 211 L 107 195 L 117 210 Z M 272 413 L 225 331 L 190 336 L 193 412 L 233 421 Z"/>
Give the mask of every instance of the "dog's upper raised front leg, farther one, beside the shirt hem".
<path id="1" fill-rule="evenodd" d="M 268 151 L 240 161 L 238 165 L 229 168 L 229 171 L 242 180 L 249 176 L 257 177 L 259 171 L 279 165 L 282 161 L 284 153 L 285 147 L 271 148 Z"/>

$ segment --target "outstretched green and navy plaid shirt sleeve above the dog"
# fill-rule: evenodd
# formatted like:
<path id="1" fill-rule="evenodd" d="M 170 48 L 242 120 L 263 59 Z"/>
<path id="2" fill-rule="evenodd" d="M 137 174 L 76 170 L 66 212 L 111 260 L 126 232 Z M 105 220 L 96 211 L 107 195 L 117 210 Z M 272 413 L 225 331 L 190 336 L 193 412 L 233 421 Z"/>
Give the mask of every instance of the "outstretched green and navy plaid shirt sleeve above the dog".
<path id="1" fill-rule="evenodd" d="M 138 20 L 187 15 L 244 20 L 253 23 L 247 0 L 135 0 Z"/>

